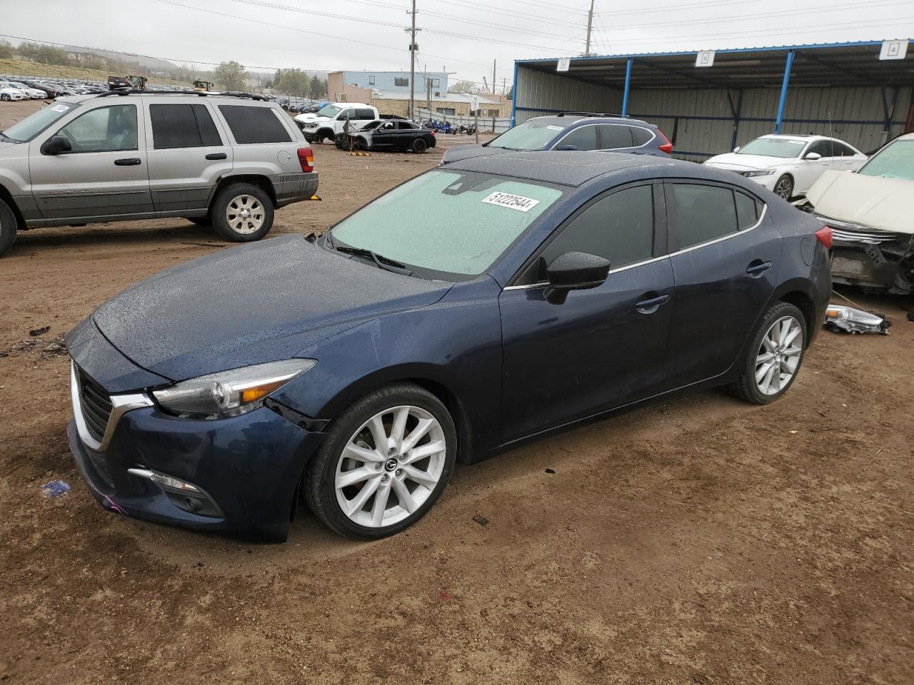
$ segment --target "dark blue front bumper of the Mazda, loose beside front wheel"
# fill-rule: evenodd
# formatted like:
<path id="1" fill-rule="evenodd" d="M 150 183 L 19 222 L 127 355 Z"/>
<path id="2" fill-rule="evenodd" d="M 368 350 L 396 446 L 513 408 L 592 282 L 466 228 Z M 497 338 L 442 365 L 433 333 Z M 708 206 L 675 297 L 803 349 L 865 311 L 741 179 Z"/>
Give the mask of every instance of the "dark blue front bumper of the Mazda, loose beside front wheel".
<path id="1" fill-rule="evenodd" d="M 80 411 L 77 402 L 77 417 L 67 429 L 69 447 L 103 507 L 146 521 L 273 542 L 286 539 L 304 466 L 324 439 L 265 406 L 241 416 L 193 420 L 153 405 L 123 413 L 104 447 L 92 449 L 91 436 L 78 427 Z M 201 496 L 187 501 L 143 472 L 190 483 Z"/>

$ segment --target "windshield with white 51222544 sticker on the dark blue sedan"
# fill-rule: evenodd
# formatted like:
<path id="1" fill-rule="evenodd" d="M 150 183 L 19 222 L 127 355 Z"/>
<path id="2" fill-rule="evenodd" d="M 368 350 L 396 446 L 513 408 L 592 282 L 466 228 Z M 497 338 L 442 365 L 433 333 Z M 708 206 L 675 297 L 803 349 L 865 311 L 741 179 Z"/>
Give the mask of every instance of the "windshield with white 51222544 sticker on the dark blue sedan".
<path id="1" fill-rule="evenodd" d="M 561 194 L 504 176 L 431 171 L 343 219 L 333 239 L 460 280 L 488 269 Z"/>

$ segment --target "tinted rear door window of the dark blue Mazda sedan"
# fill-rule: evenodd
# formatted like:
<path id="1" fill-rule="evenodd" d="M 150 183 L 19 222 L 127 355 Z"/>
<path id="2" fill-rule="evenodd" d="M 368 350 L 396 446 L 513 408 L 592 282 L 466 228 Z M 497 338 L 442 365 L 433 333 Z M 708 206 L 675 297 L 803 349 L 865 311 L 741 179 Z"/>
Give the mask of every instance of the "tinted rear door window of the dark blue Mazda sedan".
<path id="1" fill-rule="evenodd" d="M 672 184 L 672 188 L 671 216 L 679 249 L 707 243 L 739 230 L 736 203 L 730 188 L 700 184 Z"/>

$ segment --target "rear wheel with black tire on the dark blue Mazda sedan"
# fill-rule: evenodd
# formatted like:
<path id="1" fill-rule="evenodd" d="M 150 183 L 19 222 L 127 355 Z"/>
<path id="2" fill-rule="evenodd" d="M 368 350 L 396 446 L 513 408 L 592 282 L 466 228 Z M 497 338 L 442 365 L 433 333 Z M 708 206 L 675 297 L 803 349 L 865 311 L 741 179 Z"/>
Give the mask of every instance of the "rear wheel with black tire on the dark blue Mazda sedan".
<path id="1" fill-rule="evenodd" d="M 783 327 L 784 322 L 786 329 Z M 796 328 L 799 332 L 795 332 Z M 772 337 L 769 337 L 770 333 Z M 802 311 L 787 302 L 775 304 L 765 312 L 758 329 L 752 335 L 742 374 L 732 386 L 734 394 L 753 405 L 774 402 L 787 392 L 800 373 L 807 340 L 809 332 Z M 775 364 L 776 371 L 764 373 L 766 364 L 771 364 L 769 360 L 761 361 L 766 355 L 775 355 L 771 362 Z"/>

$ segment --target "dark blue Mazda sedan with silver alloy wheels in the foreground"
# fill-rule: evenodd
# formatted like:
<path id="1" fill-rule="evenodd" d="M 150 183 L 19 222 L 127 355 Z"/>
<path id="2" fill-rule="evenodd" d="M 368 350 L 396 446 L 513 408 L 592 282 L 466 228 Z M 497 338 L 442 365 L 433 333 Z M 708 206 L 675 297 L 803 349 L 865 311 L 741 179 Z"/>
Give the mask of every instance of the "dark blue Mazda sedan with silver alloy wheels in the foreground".
<path id="1" fill-rule="evenodd" d="M 154 522 L 284 540 L 299 501 L 372 539 L 456 461 L 729 385 L 796 379 L 830 229 L 737 174 L 611 153 L 439 167 L 321 237 L 168 269 L 69 332 L 69 444 Z"/>

